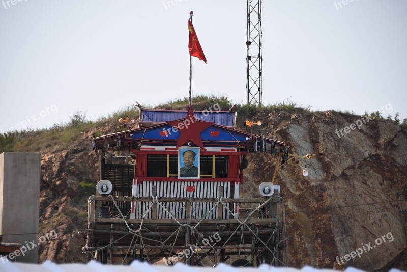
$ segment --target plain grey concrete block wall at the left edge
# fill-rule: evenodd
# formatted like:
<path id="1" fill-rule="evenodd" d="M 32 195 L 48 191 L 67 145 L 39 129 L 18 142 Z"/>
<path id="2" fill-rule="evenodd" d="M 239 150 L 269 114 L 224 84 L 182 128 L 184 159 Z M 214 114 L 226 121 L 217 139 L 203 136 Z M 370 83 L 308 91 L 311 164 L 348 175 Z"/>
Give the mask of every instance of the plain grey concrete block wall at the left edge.
<path id="1" fill-rule="evenodd" d="M 19 243 L 22 246 L 33 241 L 38 244 L 40 176 L 40 154 L 10 152 L 0 154 L 2 242 Z M 15 260 L 38 263 L 38 247 L 27 249 L 25 256 L 20 255 Z"/>

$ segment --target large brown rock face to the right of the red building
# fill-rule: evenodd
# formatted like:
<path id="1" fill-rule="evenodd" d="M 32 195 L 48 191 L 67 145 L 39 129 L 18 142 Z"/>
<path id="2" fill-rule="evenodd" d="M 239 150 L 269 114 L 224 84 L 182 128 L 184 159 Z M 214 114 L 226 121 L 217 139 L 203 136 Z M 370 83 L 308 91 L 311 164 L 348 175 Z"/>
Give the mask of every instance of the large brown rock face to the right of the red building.
<path id="1" fill-rule="evenodd" d="M 260 113 L 258 118 L 267 120 L 262 134 L 284 140 L 291 153 L 316 154 L 313 160 L 292 162 L 275 182 L 285 199 L 290 266 L 407 269 L 405 129 L 373 120 L 342 136 L 340 129 L 361 118 L 286 111 Z M 248 171 L 256 173 L 252 182 L 269 180 L 271 171 L 263 169 L 270 157 L 251 158 L 261 160 Z M 301 173 L 305 165 L 308 177 Z M 376 239 L 386 234 L 386 242 L 378 240 L 376 246 Z M 366 245 L 365 251 L 362 244 L 369 242 L 373 249 Z M 358 248 L 363 250 L 360 257 L 344 264 L 335 261 Z"/>

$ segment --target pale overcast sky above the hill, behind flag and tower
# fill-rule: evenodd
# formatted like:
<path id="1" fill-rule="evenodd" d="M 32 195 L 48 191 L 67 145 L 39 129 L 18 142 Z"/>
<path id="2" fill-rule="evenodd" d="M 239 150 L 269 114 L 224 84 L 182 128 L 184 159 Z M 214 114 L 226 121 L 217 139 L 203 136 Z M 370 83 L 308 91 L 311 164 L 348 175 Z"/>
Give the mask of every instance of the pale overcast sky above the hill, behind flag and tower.
<path id="1" fill-rule="evenodd" d="M 191 10 L 208 60 L 192 59 L 194 93 L 245 103 L 245 0 L 4 0 L 0 132 L 188 95 Z M 263 0 L 264 104 L 407 118 L 406 14 L 405 0 Z"/>

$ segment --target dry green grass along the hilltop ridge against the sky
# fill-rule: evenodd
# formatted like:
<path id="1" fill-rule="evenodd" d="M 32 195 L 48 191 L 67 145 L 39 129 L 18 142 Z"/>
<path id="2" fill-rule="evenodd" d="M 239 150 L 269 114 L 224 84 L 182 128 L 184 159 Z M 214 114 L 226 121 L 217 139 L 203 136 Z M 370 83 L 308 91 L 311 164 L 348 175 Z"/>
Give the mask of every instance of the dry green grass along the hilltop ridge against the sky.
<path id="1" fill-rule="evenodd" d="M 220 110 L 228 111 L 232 107 L 232 102 L 229 97 L 220 95 L 204 95 L 198 94 L 193 97 L 193 107 L 195 110 L 206 110 L 217 104 Z M 189 106 L 189 100 L 187 96 L 183 98 L 175 99 L 165 103 L 158 104 L 155 107 L 150 105 L 143 105 L 145 108 L 163 108 L 172 110 L 186 110 Z M 216 106 L 217 107 L 217 106 Z M 293 101 L 289 100 L 283 102 L 276 102 L 274 104 L 268 104 L 263 106 L 257 106 L 255 104 L 245 104 L 243 101 L 237 105 L 238 117 L 245 118 L 255 116 L 260 111 L 301 111 L 310 113 L 311 108 L 298 106 Z M 314 111 L 314 113 L 321 113 L 326 111 Z M 341 115 L 346 118 L 357 117 L 354 112 L 340 112 L 331 110 L 332 113 Z M 365 112 L 365 115 L 373 115 L 374 113 Z M 376 113 L 377 114 L 377 113 Z M 21 132 L 8 132 L 8 134 L 0 133 L 0 153 L 2 152 L 39 152 L 44 149 L 59 147 L 66 149 L 70 142 L 74 141 L 81 133 L 89 131 L 94 128 L 100 128 L 100 130 L 93 133 L 93 137 L 99 137 L 106 134 L 103 131 L 104 128 L 110 126 L 110 128 L 119 130 L 125 130 L 125 128 L 119 123 L 119 118 L 125 119 L 126 117 L 139 118 L 139 110 L 134 105 L 123 107 L 115 112 L 108 114 L 107 117 L 100 117 L 96 121 L 90 121 L 86 119 L 84 113 L 78 111 L 70 117 L 68 123 L 54 124 L 51 128 L 45 128 L 40 130 L 23 130 Z M 384 117 L 380 116 L 385 119 Z M 394 123 L 400 125 L 402 128 L 407 129 L 407 119 L 400 122 L 398 113 L 394 119 L 391 116 L 386 118 Z"/>

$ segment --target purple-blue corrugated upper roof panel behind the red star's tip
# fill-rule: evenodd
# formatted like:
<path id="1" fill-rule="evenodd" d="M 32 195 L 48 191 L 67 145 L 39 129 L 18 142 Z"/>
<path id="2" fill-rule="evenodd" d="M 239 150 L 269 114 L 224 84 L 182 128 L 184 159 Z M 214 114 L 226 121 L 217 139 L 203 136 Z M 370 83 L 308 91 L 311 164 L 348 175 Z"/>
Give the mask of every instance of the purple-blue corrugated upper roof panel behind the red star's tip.
<path id="1" fill-rule="evenodd" d="M 148 126 L 153 124 L 164 123 L 168 121 L 178 120 L 187 116 L 187 110 L 149 110 L 142 108 L 140 110 L 139 126 Z M 226 111 L 194 111 L 196 118 L 206 121 L 214 122 L 216 125 L 235 128 L 236 112 Z"/>

